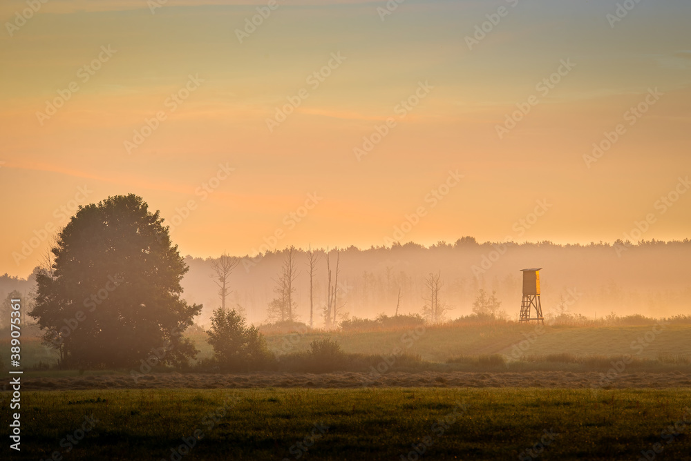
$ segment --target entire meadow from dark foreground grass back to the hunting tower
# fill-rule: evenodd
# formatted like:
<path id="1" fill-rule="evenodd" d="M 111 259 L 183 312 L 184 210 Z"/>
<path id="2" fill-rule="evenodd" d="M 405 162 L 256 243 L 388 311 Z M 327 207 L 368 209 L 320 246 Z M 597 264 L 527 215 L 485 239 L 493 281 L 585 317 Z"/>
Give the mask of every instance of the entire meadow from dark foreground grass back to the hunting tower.
<path id="1" fill-rule="evenodd" d="M 210 357 L 205 333 L 188 334 Z M 55 369 L 29 339 L 22 453 L 9 459 L 688 460 L 689 337 L 689 324 L 654 322 L 267 331 L 278 369 L 137 381 Z M 301 371 L 296 358 L 325 339 L 354 359 Z"/>

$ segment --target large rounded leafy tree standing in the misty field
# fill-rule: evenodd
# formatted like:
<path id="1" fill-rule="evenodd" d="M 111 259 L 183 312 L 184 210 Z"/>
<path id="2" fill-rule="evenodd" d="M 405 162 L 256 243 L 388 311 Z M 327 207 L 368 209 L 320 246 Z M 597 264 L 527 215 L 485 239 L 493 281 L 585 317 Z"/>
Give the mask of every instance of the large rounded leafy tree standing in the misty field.
<path id="1" fill-rule="evenodd" d="M 29 314 L 63 366 L 133 366 L 152 351 L 181 364 L 196 354 L 182 332 L 202 306 L 180 298 L 188 267 L 141 197 L 80 206 L 52 253 L 53 270 L 37 275 Z"/>

